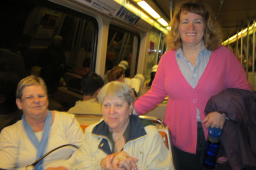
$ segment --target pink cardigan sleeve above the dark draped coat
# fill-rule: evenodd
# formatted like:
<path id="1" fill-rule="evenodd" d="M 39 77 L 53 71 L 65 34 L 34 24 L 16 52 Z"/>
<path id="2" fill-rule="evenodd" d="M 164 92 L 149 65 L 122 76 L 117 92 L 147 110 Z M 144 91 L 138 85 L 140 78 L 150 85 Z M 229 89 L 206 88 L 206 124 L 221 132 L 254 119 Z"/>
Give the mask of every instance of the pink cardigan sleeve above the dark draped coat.
<path id="1" fill-rule="evenodd" d="M 251 84 L 248 83 L 245 70 L 242 65 L 239 63 L 238 59 L 232 53 L 231 50 L 226 50 L 229 59 L 226 63 L 226 76 L 225 76 L 225 87 L 237 88 L 244 90 L 252 90 Z"/>

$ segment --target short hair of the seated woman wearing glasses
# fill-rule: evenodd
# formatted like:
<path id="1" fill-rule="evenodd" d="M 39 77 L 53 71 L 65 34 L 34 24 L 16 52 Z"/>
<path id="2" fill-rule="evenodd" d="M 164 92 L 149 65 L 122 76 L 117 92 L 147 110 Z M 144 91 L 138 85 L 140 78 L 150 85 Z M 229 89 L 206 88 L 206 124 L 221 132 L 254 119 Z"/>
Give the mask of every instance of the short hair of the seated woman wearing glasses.
<path id="1" fill-rule="evenodd" d="M 18 83 L 18 87 L 16 90 L 17 99 L 21 99 L 23 96 L 23 89 L 28 86 L 41 86 L 44 92 L 47 94 L 47 87 L 41 77 L 36 77 L 34 75 L 27 76 Z"/>

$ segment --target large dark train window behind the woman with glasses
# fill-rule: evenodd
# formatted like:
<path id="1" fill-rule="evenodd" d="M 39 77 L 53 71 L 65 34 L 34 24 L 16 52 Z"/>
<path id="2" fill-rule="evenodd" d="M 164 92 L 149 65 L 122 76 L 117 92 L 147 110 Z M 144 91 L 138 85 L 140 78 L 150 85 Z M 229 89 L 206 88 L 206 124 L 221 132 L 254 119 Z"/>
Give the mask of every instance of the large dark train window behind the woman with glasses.
<path id="1" fill-rule="evenodd" d="M 96 19 L 49 1 L 9 0 L 0 6 L 0 48 L 17 52 L 21 35 L 27 34 L 34 66 L 60 67 L 68 88 L 80 93 L 79 78 L 95 71 Z"/>

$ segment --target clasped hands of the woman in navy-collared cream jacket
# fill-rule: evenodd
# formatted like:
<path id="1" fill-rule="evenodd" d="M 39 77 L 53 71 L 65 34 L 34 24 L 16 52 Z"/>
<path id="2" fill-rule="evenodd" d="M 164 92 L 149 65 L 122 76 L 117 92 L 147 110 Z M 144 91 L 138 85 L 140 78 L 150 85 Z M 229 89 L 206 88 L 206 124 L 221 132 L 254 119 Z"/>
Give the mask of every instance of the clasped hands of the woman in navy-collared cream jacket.
<path id="1" fill-rule="evenodd" d="M 137 170 L 137 165 L 135 163 L 138 161 L 138 159 L 133 158 L 124 151 L 113 153 L 110 155 L 110 159 L 111 164 L 116 166 L 118 169 Z"/>

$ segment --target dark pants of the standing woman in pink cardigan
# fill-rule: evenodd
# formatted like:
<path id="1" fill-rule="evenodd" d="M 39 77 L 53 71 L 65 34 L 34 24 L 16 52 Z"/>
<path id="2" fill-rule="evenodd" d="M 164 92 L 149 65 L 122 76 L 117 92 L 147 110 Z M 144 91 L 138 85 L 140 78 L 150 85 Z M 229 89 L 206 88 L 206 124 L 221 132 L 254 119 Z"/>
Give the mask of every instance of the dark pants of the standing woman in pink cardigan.
<path id="1" fill-rule="evenodd" d="M 179 170 L 206 170 L 203 166 L 203 153 L 206 140 L 204 138 L 203 126 L 197 123 L 197 149 L 196 155 L 181 151 L 174 146 Z"/>

